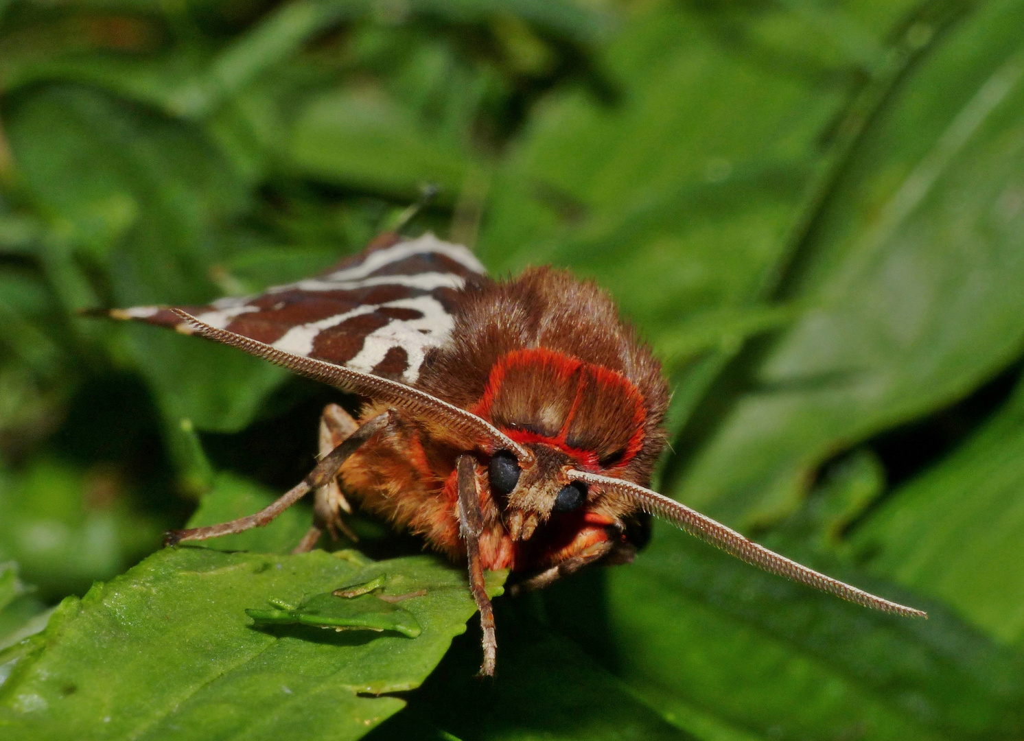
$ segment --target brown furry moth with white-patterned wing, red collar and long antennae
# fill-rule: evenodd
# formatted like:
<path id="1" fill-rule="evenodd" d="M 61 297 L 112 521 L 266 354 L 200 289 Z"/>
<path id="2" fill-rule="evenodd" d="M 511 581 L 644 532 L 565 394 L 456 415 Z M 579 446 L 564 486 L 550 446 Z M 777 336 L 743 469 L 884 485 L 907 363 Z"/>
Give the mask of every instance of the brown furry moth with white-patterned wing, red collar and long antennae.
<path id="1" fill-rule="evenodd" d="M 519 589 L 583 566 L 633 560 L 650 516 L 748 563 L 859 605 L 890 602 L 769 551 L 648 488 L 666 445 L 668 384 L 611 298 L 568 272 L 486 276 L 465 247 L 432 234 L 378 236 L 359 255 L 258 296 L 205 306 L 115 309 L 199 335 L 365 399 L 357 419 L 331 404 L 321 459 L 266 509 L 168 533 L 167 544 L 266 525 L 309 491 L 313 525 L 345 530 L 348 497 L 468 564 L 480 612 L 481 674 L 493 674 L 495 618 L 483 573 Z"/>

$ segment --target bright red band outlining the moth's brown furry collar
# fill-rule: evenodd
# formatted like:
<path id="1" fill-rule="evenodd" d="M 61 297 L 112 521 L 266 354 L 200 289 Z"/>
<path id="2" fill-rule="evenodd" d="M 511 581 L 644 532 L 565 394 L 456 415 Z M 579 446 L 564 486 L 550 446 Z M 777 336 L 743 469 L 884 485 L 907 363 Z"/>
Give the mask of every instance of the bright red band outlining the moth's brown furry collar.
<path id="1" fill-rule="evenodd" d="M 565 415 L 565 421 L 562 423 L 562 427 L 558 433 L 553 436 L 544 435 L 534 430 L 504 426 L 502 427 L 502 432 L 518 443 L 544 443 L 551 445 L 572 456 L 581 466 L 599 471 L 601 467 L 598 463 L 597 453 L 593 450 L 585 450 L 569 445 L 568 434 L 569 428 L 583 402 L 584 394 L 588 391 L 600 394 L 602 389 L 607 389 L 608 391 L 613 390 L 613 392 L 625 393 L 635 405 L 632 420 L 634 432 L 626 445 L 626 450 L 622 459 L 615 462 L 610 468 L 625 466 L 637 454 L 643 445 L 643 423 L 647 417 L 643 397 L 637 387 L 617 370 L 612 370 L 603 365 L 587 363 L 579 358 L 547 348 L 537 347 L 513 350 L 502 356 L 492 367 L 483 395 L 471 411 L 488 422 L 492 421 L 492 408 L 496 398 L 501 393 L 509 369 L 516 367 L 529 368 L 531 366 L 546 370 L 554 369 L 556 377 L 562 381 L 568 381 L 573 374 L 578 375 L 575 396 L 568 412 Z"/>

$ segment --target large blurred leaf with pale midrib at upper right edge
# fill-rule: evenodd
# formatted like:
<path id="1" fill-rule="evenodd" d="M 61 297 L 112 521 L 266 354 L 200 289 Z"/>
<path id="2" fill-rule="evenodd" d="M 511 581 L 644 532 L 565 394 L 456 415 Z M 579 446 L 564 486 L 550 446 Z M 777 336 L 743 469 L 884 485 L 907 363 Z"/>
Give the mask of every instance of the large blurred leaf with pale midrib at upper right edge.
<path id="1" fill-rule="evenodd" d="M 675 496 L 770 521 L 837 448 L 950 403 L 1021 352 L 1022 23 L 1020 2 L 984 6 L 894 93 L 783 288 L 816 305 L 739 361 L 718 389 L 743 392 L 731 408 L 698 412 Z"/>

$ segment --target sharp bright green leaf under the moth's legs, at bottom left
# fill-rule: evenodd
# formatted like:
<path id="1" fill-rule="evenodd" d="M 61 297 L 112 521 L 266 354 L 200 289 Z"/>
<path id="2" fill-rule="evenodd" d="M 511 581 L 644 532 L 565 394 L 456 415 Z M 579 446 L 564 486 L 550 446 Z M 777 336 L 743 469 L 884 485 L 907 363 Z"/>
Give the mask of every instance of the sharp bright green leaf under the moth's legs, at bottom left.
<path id="1" fill-rule="evenodd" d="M 300 603 L 381 573 L 388 591 L 426 591 L 402 602 L 422 626 L 418 638 L 254 629 L 245 614 L 261 598 Z M 496 576 L 492 594 L 503 580 Z M 66 600 L 31 650 L 9 650 L 20 655 L 0 686 L 0 732 L 40 740 L 355 739 L 402 707 L 379 695 L 422 683 L 474 610 L 464 571 L 428 556 L 367 564 L 348 552 L 164 550 Z"/>

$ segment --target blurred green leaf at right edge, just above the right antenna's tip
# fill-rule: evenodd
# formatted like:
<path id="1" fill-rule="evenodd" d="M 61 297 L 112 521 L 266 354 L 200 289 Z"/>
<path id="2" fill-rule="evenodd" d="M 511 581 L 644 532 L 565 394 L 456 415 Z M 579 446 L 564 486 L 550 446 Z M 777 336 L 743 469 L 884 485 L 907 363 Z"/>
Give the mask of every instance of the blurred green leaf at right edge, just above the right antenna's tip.
<path id="1" fill-rule="evenodd" d="M 850 539 L 870 568 L 1024 638 L 1024 391 L 947 459 L 889 494 Z"/>

